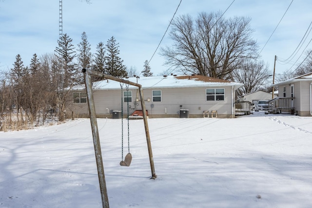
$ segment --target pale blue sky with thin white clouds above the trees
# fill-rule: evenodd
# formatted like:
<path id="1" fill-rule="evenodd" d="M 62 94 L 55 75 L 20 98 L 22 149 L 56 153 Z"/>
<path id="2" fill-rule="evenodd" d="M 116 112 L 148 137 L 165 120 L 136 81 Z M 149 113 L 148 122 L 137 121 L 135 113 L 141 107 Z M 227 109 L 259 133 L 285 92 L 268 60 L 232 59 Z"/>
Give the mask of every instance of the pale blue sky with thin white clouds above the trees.
<path id="1" fill-rule="evenodd" d="M 233 0 L 182 0 L 176 17 L 200 12 L 224 12 Z M 263 60 L 273 72 L 274 56 L 276 73 L 292 67 L 292 62 L 283 64 L 295 51 L 312 21 L 312 0 L 293 0 L 267 45 L 278 22 L 292 0 L 234 0 L 224 14 L 250 17 L 253 36 L 259 44 Z M 120 57 L 127 67 L 143 70 L 145 60 L 150 60 L 172 19 L 180 0 L 63 0 L 63 33 L 73 39 L 78 49 L 81 33 L 86 32 L 92 47 L 98 42 L 106 44 L 112 36 L 119 43 Z M 170 30 L 170 29 L 169 29 Z M 168 31 L 169 32 L 169 31 Z M 0 70 L 12 68 L 15 57 L 20 54 L 29 65 L 33 54 L 38 56 L 53 53 L 59 38 L 58 0 L 0 0 Z M 292 61 L 296 61 L 304 48 L 312 49 L 312 34 Z M 160 46 L 171 45 L 168 33 Z M 308 46 L 307 46 L 308 45 Z M 264 48 L 263 48 L 264 47 Z M 158 75 L 168 67 L 157 50 L 150 62 L 151 71 Z M 306 57 L 303 53 L 297 62 Z M 292 67 L 294 70 L 296 65 Z"/>

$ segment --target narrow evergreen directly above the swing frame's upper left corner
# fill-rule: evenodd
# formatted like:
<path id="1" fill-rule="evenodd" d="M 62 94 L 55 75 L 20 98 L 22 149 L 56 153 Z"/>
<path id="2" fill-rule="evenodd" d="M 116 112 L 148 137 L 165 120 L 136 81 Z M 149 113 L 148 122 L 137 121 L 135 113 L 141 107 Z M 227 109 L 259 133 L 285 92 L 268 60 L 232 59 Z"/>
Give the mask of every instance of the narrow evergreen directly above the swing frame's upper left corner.
<path id="1" fill-rule="evenodd" d="M 78 44 L 78 62 L 82 68 L 90 68 L 92 62 L 91 44 L 85 32 L 81 34 L 81 42 Z"/>

